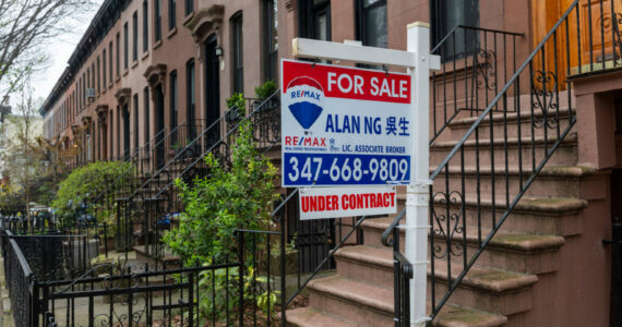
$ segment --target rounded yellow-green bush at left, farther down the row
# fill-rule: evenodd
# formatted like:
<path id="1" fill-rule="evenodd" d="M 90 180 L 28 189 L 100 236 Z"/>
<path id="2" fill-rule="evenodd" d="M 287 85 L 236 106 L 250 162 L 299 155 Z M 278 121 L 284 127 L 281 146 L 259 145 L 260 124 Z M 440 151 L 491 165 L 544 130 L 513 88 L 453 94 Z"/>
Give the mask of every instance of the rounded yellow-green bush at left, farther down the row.
<path id="1" fill-rule="evenodd" d="M 132 164 L 122 161 L 97 161 L 80 167 L 60 183 L 51 206 L 62 217 L 61 223 L 71 223 L 81 210 L 80 204 L 84 203 L 94 213 L 95 208 L 113 201 L 116 190 L 128 187 L 134 172 Z M 99 214 L 105 211 L 99 210 Z"/>

